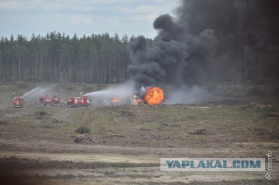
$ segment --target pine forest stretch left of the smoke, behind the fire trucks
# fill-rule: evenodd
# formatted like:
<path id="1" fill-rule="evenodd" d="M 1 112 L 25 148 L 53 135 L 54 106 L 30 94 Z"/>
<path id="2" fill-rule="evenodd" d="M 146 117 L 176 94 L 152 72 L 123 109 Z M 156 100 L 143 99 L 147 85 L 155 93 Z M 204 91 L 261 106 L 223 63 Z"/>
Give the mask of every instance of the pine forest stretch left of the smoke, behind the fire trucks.
<path id="1" fill-rule="evenodd" d="M 55 31 L 46 36 L 33 34 L 30 39 L 2 37 L 0 81 L 123 82 L 132 62 L 126 46 L 133 39 L 107 33 L 70 38 Z"/>

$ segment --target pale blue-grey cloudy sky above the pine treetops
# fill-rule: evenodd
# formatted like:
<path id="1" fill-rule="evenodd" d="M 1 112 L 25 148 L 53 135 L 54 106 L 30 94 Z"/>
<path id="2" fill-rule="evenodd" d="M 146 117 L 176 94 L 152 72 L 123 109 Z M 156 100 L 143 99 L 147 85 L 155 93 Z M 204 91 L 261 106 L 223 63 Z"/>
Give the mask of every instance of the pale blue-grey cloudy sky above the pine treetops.
<path id="1" fill-rule="evenodd" d="M 0 0 L 0 37 L 45 36 L 56 31 L 154 38 L 153 21 L 172 14 L 178 0 Z"/>

